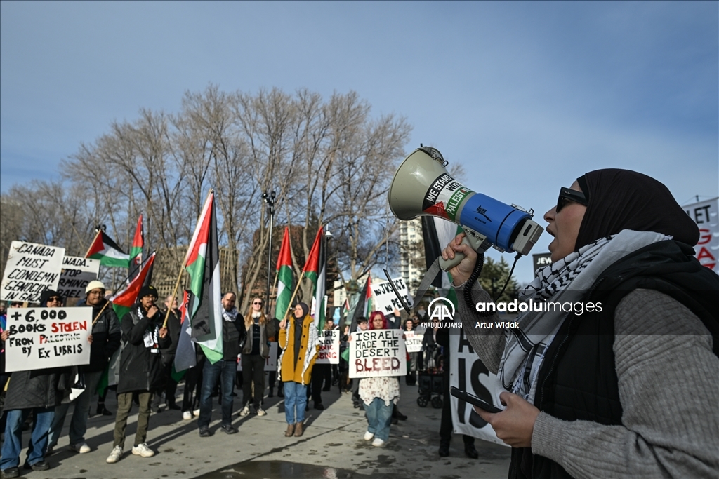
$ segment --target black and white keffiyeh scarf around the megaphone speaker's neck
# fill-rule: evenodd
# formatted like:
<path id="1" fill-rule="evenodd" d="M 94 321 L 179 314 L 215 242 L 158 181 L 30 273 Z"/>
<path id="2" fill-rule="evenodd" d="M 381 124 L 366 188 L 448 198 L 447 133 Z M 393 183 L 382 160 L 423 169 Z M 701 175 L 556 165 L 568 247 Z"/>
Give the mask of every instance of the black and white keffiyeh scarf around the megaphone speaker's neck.
<path id="1" fill-rule="evenodd" d="M 624 256 L 656 241 L 671 239 L 661 233 L 623 230 L 600 238 L 538 271 L 520 294 L 534 302 L 581 302 L 600 274 Z M 539 368 L 547 348 L 569 312 L 527 311 L 516 321 L 518 327 L 505 330 L 505 348 L 495 383 L 495 404 L 499 395 L 510 391 L 533 403 Z"/>

